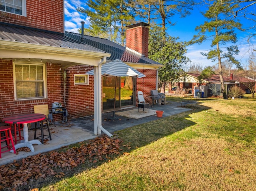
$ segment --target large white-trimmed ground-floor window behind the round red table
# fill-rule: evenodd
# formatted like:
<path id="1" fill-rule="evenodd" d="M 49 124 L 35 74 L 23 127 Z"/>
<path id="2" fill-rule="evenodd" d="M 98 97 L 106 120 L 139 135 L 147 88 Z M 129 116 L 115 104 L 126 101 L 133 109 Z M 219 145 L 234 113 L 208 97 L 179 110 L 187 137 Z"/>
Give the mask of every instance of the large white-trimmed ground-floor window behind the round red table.
<path id="1" fill-rule="evenodd" d="M 46 98 L 45 64 L 14 63 L 15 100 Z"/>

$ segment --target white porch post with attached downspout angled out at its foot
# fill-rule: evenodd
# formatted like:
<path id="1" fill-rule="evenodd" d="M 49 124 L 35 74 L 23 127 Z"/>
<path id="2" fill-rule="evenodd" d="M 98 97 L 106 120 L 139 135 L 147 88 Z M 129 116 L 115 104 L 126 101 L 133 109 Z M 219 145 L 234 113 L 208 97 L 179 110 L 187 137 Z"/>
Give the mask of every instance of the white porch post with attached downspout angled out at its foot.
<path id="1" fill-rule="evenodd" d="M 100 135 L 101 131 L 106 133 L 109 137 L 113 135 L 102 127 L 102 75 L 101 67 L 106 62 L 107 57 L 104 56 L 103 60 L 98 66 L 94 66 L 94 134 Z"/>

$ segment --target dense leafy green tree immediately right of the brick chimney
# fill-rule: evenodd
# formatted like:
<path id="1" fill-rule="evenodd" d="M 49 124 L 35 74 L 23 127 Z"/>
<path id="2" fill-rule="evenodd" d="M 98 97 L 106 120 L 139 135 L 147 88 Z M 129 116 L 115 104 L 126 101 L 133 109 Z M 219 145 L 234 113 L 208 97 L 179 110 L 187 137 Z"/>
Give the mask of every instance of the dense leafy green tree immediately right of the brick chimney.
<path id="1" fill-rule="evenodd" d="M 158 26 L 150 28 L 148 57 L 164 65 L 158 71 L 158 87 L 161 87 L 162 93 L 166 83 L 178 80 L 184 73 L 182 65 L 190 61 L 185 56 L 185 44 L 177 40 Z"/>

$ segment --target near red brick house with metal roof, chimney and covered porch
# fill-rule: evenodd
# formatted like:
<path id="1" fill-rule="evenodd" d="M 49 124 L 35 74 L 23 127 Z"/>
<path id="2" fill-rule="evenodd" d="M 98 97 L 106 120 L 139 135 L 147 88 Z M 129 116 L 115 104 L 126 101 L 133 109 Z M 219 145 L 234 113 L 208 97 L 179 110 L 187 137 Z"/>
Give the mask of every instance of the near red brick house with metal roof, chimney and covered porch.
<path id="1" fill-rule="evenodd" d="M 146 97 L 157 86 L 162 65 L 148 59 L 148 24 L 127 26 L 126 42 L 122 47 L 64 32 L 64 0 L 6 2 L 0 6 L 0 118 L 60 102 L 72 118 L 94 114 L 100 134 L 101 113 L 113 110 L 115 86 L 115 78 L 100 74 L 102 64 L 120 59 L 146 75 L 118 77 L 116 110 L 136 106 L 138 91 Z M 92 69 L 96 75 L 86 75 Z"/>

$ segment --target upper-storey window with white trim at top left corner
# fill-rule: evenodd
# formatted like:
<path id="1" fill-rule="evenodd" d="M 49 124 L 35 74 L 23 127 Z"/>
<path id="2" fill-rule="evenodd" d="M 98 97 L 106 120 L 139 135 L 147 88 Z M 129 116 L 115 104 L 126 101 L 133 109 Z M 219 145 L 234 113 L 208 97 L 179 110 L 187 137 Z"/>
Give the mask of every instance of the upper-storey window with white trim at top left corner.
<path id="1" fill-rule="evenodd" d="M 0 11 L 26 16 L 26 0 L 0 0 Z"/>

